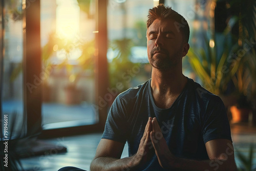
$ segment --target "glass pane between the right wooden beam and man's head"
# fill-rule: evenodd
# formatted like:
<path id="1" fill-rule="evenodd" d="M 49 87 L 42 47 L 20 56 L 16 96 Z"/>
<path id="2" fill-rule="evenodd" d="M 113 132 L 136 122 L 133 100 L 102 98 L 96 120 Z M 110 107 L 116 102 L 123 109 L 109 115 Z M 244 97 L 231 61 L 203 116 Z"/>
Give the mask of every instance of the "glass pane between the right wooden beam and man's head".
<path id="1" fill-rule="evenodd" d="M 109 1 L 107 56 L 111 87 L 117 88 L 119 93 L 151 78 L 152 68 L 146 50 L 146 20 L 148 9 L 153 6 L 153 0 Z M 122 86 L 117 87 L 118 82 Z"/>

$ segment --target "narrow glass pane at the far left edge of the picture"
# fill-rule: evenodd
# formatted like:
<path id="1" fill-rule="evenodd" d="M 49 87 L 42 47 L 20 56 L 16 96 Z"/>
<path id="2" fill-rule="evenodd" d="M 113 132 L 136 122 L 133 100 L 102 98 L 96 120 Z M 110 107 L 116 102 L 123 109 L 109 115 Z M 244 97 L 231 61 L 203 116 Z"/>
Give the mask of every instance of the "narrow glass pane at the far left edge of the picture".
<path id="1" fill-rule="evenodd" d="M 5 13 L 3 44 L 3 82 L 2 89 L 2 114 L 8 115 L 9 135 L 17 135 L 21 124 L 24 121 L 24 102 L 23 102 L 23 23 L 22 23 L 22 1 L 4 1 Z M 2 11 L 1 11 L 2 13 Z M 2 18 L 2 16 L 1 16 Z M 2 41 L 2 40 L 1 40 Z M 3 48 L 3 49 L 2 49 Z M 4 116 L 2 116 L 2 119 Z M 14 122 L 14 129 L 11 130 L 11 123 Z M 23 130 L 24 131 L 24 130 Z"/>

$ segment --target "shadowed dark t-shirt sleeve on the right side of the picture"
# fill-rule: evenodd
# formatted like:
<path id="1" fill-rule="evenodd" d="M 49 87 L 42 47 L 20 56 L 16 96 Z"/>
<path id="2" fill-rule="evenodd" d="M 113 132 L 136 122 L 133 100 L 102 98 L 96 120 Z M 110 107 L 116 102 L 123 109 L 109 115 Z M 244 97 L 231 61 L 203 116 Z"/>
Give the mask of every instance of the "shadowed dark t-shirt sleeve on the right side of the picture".
<path id="1" fill-rule="evenodd" d="M 204 143 L 213 139 L 231 139 L 226 108 L 220 97 L 214 96 L 207 104 L 203 122 Z"/>

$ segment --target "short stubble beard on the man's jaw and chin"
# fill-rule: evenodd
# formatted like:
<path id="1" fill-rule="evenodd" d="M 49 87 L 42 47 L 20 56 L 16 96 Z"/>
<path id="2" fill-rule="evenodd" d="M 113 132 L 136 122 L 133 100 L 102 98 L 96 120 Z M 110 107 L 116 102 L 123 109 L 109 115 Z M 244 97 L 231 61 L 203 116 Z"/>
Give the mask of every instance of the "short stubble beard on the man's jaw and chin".
<path id="1" fill-rule="evenodd" d="M 155 51 L 161 51 L 162 53 L 154 54 Z M 169 52 L 166 49 L 156 47 L 153 48 L 150 52 L 150 58 L 148 61 L 153 68 L 158 70 L 169 70 L 178 65 L 182 60 L 182 47 L 172 56 L 169 55 Z"/>

